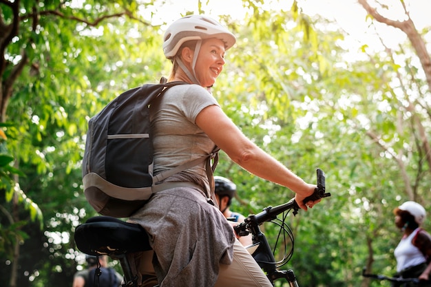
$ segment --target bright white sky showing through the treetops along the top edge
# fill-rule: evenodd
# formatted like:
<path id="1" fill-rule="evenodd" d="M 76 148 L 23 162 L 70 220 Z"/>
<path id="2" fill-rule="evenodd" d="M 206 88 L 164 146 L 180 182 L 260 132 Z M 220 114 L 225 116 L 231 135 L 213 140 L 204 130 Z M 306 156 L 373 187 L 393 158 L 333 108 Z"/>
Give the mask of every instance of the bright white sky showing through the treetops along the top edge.
<path id="1" fill-rule="evenodd" d="M 382 12 L 383 16 L 398 21 L 405 19 L 405 13 L 399 0 L 380 2 L 387 3 L 390 8 L 390 12 Z M 406 8 L 410 11 L 410 17 L 418 30 L 431 26 L 431 17 L 429 17 L 431 1 L 410 0 L 405 2 Z M 181 17 L 181 14 L 185 14 L 185 12 L 198 13 L 196 3 L 197 1 L 195 0 L 167 1 L 165 8 L 158 10 L 156 17 L 153 19 L 154 21 L 160 21 L 160 23 L 170 23 L 170 21 Z M 370 5 L 372 4 L 372 1 L 370 1 Z M 264 6 L 276 10 L 290 10 L 291 5 L 292 1 L 289 0 L 265 1 L 264 4 Z M 350 45 L 366 44 L 372 48 L 381 49 L 382 46 L 379 44 L 380 41 L 376 36 L 376 31 L 374 28 L 369 27 L 370 22 L 366 21 L 366 11 L 357 3 L 357 0 L 298 0 L 298 5 L 306 14 L 312 17 L 319 14 L 321 17 L 337 21 L 339 27 L 349 34 L 346 41 L 350 41 Z M 202 6 L 205 11 L 209 11 L 209 16 L 212 17 L 217 17 L 219 14 L 230 14 L 232 17 L 242 19 L 245 14 L 241 0 L 209 1 L 208 6 L 205 3 L 202 3 Z M 377 33 L 388 47 L 395 47 L 400 41 L 406 40 L 405 34 L 395 28 L 379 23 L 376 24 L 376 27 Z"/>

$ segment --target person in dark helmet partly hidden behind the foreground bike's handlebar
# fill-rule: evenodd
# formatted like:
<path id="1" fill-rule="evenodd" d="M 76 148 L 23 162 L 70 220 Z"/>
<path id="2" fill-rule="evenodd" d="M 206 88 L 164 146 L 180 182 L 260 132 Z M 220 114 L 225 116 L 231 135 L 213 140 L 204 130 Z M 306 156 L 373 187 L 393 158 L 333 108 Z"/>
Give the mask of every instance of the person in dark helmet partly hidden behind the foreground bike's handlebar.
<path id="1" fill-rule="evenodd" d="M 220 209 L 220 211 L 222 211 L 224 217 L 229 219 L 229 221 L 231 222 L 235 222 L 233 226 L 244 222 L 244 215 L 238 212 L 231 211 L 232 198 L 235 197 L 236 193 L 236 184 L 222 176 L 214 176 L 214 183 L 215 199 L 217 200 L 218 208 Z M 242 246 L 249 246 L 253 244 L 251 234 L 247 236 L 241 236 L 238 238 L 238 240 L 240 240 Z"/>

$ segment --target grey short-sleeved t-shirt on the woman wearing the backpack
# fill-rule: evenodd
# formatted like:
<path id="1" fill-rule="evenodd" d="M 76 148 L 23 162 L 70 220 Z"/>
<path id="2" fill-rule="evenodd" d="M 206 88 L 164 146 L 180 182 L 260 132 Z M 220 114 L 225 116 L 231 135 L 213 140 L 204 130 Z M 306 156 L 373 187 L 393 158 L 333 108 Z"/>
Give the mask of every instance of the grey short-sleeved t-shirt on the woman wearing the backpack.
<path id="1" fill-rule="evenodd" d="M 210 105 L 218 105 L 217 100 L 199 85 L 176 85 L 154 100 L 150 109 L 154 175 L 213 151 L 214 142 L 195 123 L 200 111 Z M 190 181 L 209 191 L 204 162 L 167 181 Z"/>

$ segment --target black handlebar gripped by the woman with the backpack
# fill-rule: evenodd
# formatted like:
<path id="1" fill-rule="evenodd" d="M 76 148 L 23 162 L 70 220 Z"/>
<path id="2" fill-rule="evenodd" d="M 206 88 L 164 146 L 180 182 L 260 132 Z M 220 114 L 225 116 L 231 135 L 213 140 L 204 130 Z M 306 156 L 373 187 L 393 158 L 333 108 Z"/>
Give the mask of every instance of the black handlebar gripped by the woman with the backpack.
<path id="1" fill-rule="evenodd" d="M 325 173 L 322 171 L 322 169 L 317 169 L 317 187 L 315 188 L 315 191 L 312 195 L 308 196 L 304 199 L 304 203 L 310 201 L 310 200 L 319 200 L 321 198 L 326 198 L 330 196 L 330 193 L 326 193 L 325 188 Z M 299 205 L 295 201 L 295 198 L 292 198 L 285 204 L 281 204 L 278 206 L 268 206 L 263 209 L 262 212 L 257 213 L 256 215 L 249 215 L 244 222 L 241 224 L 238 224 L 237 226 L 234 226 L 233 229 L 235 230 L 235 233 L 244 236 L 249 234 L 247 229 L 249 229 L 249 225 L 251 222 L 255 222 L 256 224 L 262 224 L 263 222 L 269 222 L 271 220 L 275 220 L 277 218 L 277 215 L 282 213 L 283 211 L 286 211 L 288 209 L 293 209 L 293 215 L 297 214 L 297 211 L 299 210 Z"/>

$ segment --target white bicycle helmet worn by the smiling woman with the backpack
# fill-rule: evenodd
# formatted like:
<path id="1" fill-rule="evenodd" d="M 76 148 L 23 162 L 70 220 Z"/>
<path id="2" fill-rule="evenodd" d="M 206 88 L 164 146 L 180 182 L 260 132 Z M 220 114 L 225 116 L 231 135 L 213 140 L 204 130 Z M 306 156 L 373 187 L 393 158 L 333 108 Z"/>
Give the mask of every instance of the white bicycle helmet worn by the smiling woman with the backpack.
<path id="1" fill-rule="evenodd" d="M 217 38 L 224 42 L 228 50 L 235 44 L 235 36 L 218 21 L 204 15 L 189 15 L 172 23 L 163 38 L 163 52 L 167 59 L 172 59 L 182 43 L 191 40 Z"/>

